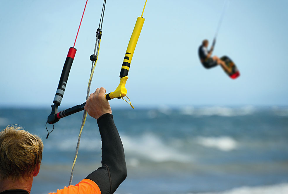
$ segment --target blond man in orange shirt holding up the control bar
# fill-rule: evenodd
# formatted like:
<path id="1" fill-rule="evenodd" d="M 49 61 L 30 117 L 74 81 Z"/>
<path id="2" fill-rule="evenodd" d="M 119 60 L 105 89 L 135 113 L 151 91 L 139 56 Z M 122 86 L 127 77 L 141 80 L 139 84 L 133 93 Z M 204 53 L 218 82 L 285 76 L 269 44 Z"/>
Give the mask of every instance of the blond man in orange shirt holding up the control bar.
<path id="1" fill-rule="evenodd" d="M 126 178 L 124 149 L 105 92 L 103 87 L 97 88 L 85 105 L 88 114 L 97 119 L 102 166 L 75 186 L 57 190 L 57 194 L 112 194 Z M 0 132 L 0 194 L 30 193 L 33 177 L 40 170 L 42 150 L 42 140 L 21 127 L 10 125 Z"/>

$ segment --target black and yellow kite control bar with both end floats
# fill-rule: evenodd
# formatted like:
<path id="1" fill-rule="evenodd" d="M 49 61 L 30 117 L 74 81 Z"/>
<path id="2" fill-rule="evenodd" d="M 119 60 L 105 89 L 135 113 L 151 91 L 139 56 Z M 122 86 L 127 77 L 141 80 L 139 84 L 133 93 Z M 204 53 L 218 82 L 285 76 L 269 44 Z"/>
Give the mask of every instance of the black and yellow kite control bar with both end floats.
<path id="1" fill-rule="evenodd" d="M 124 60 L 122 63 L 122 67 L 121 67 L 121 71 L 120 71 L 120 83 L 114 92 L 110 92 L 110 93 L 105 95 L 107 100 L 111 100 L 113 98 L 123 98 L 127 94 L 127 89 L 125 87 L 126 81 L 128 79 L 127 75 L 129 72 L 131 60 L 132 60 L 132 57 L 134 54 L 136 44 L 138 42 L 138 38 L 140 36 L 140 32 L 141 32 L 143 24 L 144 24 L 144 21 L 145 21 L 145 19 L 143 17 L 137 18 L 134 30 L 132 32 L 132 35 L 131 35 L 131 38 L 130 38 L 130 41 L 129 41 L 129 44 L 128 44 L 128 47 L 126 50 L 126 54 L 124 56 Z M 57 121 L 59 121 L 61 118 L 65 117 L 65 116 L 68 116 L 68 115 L 71 115 L 71 114 L 74 114 L 76 112 L 84 110 L 84 106 L 85 106 L 86 102 L 84 102 L 83 104 L 76 105 L 75 107 L 71 107 L 69 109 L 58 112 L 58 106 L 61 103 L 64 91 L 65 91 L 65 87 L 66 87 L 67 80 L 68 80 L 68 75 L 69 75 L 69 72 L 71 69 L 71 65 L 72 65 L 75 53 L 76 53 L 76 49 L 71 47 L 69 49 L 66 61 L 64 63 L 64 67 L 62 70 L 59 85 L 58 85 L 56 95 L 55 95 L 54 101 L 53 101 L 54 104 L 51 105 L 52 111 L 51 111 L 51 114 L 48 116 L 48 119 L 47 119 L 47 123 L 49 123 L 49 124 L 56 123 Z M 133 107 L 133 106 L 131 105 L 131 107 Z"/>

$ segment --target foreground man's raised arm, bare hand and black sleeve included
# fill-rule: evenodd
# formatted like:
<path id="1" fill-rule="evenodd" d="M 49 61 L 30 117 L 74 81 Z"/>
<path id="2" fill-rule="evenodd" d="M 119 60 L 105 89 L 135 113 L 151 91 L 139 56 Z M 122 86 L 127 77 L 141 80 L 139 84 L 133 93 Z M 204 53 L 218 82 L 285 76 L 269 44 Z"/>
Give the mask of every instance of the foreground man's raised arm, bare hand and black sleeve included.
<path id="1" fill-rule="evenodd" d="M 102 194 L 112 194 L 127 176 L 123 145 L 113 121 L 106 90 L 101 87 L 90 95 L 85 110 L 99 126 L 102 140 L 102 166 L 86 177 L 94 181 Z"/>

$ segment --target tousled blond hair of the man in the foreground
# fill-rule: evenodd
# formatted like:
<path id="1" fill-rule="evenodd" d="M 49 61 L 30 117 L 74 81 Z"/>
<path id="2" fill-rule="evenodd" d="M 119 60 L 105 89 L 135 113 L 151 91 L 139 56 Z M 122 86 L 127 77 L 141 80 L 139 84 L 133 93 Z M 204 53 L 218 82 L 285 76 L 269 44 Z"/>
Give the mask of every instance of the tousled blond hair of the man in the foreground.
<path id="1" fill-rule="evenodd" d="M 0 180 L 32 177 L 41 164 L 43 142 L 21 126 L 9 125 L 0 132 Z"/>

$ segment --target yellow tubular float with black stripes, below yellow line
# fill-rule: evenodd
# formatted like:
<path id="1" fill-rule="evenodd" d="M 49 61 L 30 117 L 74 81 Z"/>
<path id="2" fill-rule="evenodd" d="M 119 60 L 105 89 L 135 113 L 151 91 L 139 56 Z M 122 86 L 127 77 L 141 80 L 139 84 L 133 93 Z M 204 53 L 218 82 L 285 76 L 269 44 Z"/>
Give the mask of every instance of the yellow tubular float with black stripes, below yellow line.
<path id="1" fill-rule="evenodd" d="M 126 54 L 124 56 L 124 60 L 122 63 L 122 67 L 121 67 L 121 71 L 120 71 L 120 78 L 128 75 L 131 60 L 132 60 L 134 50 L 135 50 L 136 44 L 138 42 L 138 38 L 140 36 L 141 30 L 142 30 L 142 27 L 144 24 L 144 21 L 145 21 L 145 19 L 142 17 L 138 17 L 136 20 L 136 24 L 135 24 L 134 30 L 132 32 L 130 41 L 128 43 Z"/>

